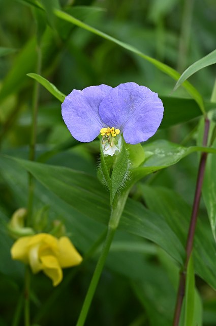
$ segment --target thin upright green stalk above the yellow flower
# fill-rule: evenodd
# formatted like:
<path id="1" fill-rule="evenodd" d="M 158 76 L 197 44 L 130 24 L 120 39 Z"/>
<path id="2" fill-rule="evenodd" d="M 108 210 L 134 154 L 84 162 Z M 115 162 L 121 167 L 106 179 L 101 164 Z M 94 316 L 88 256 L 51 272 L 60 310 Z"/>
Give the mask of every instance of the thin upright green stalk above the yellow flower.
<path id="1" fill-rule="evenodd" d="M 37 74 L 41 74 L 41 61 L 42 53 L 40 45 L 37 45 Z M 34 90 L 33 90 L 33 112 L 32 112 L 32 128 L 30 135 L 30 144 L 29 144 L 29 160 L 35 160 L 35 146 L 36 146 L 36 137 L 37 137 L 37 117 L 38 117 L 38 102 L 39 102 L 39 83 L 35 81 Z M 28 173 L 28 203 L 27 203 L 27 226 L 32 225 L 32 210 L 33 210 L 33 199 L 34 199 L 34 178 L 32 174 Z"/>

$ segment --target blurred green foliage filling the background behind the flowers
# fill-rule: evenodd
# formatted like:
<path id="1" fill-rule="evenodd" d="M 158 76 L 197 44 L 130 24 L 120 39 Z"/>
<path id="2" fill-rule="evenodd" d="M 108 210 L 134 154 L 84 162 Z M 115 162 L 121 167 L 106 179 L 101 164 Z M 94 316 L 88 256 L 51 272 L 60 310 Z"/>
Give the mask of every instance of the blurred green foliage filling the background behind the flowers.
<path id="1" fill-rule="evenodd" d="M 47 218 L 49 225 L 56 219 L 64 223 L 86 256 L 80 267 L 64 270 L 57 288 L 43 274 L 32 277 L 32 322 L 76 323 L 100 251 L 95 243 L 109 218 L 109 194 L 97 178 L 98 140 L 80 144 L 72 138 L 60 101 L 73 89 L 126 82 L 159 93 L 165 115 L 157 134 L 143 144 L 143 180 L 131 191 L 87 324 L 171 324 L 202 150 L 196 147 L 202 145 L 201 110 L 215 108 L 216 98 L 210 98 L 216 55 L 193 68 L 190 82 L 196 90 L 186 83 L 173 92 L 178 74 L 164 64 L 182 73 L 212 52 L 215 14 L 213 0 L 0 3 L 1 326 L 23 324 L 24 268 L 11 260 L 13 240 L 6 225 L 17 208 L 27 206 L 26 171 L 37 180 L 33 216 Z M 44 87 L 39 90 L 36 162 L 30 162 L 34 78 Z M 210 116 L 213 130 L 214 111 Z M 215 165 L 209 154 L 193 253 L 198 291 L 193 277 L 187 285 L 195 297 L 193 324 L 206 326 L 216 323 Z M 190 316 L 186 319 L 182 324 L 189 325 Z"/>

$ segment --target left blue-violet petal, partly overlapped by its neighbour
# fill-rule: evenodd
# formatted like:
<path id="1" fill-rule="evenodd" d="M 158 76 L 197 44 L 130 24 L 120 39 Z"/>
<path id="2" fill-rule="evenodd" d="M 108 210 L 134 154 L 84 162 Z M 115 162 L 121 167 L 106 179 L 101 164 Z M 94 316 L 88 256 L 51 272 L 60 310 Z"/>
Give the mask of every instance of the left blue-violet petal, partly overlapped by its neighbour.
<path id="1" fill-rule="evenodd" d="M 72 136 L 80 142 L 94 140 L 105 124 L 99 116 L 99 105 L 112 87 L 90 86 L 73 90 L 61 104 L 61 114 Z"/>

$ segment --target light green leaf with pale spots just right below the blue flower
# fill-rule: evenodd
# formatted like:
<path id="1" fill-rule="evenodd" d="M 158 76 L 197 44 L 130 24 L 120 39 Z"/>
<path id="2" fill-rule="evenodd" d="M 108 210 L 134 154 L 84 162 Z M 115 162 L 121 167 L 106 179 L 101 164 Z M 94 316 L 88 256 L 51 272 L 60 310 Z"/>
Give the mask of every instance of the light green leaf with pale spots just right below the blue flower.
<path id="1" fill-rule="evenodd" d="M 216 153 L 214 148 L 190 146 L 183 147 L 165 140 L 159 140 L 143 146 L 146 159 L 141 167 L 133 169 L 132 177 L 139 180 L 144 176 L 176 164 L 179 160 L 194 152 Z"/>

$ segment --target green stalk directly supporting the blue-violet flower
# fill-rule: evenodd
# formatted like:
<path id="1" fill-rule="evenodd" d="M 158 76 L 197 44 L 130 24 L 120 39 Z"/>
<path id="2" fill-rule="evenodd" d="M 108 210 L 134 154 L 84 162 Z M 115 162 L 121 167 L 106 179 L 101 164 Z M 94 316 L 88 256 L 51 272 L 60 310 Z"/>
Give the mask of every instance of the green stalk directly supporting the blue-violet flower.
<path id="1" fill-rule="evenodd" d="M 117 229 L 122 211 L 125 207 L 125 203 L 128 198 L 128 194 L 129 194 L 129 189 L 127 189 L 125 192 L 122 192 L 120 195 L 116 196 L 114 199 L 112 210 L 111 210 L 111 215 L 110 215 L 110 220 L 109 220 L 109 225 L 108 225 L 108 229 L 107 229 L 107 236 L 106 236 L 98 263 L 96 265 L 94 274 L 92 276 L 87 294 L 85 296 L 85 300 L 84 300 L 84 303 L 83 303 L 76 326 L 83 326 L 85 323 L 85 319 L 87 317 L 88 310 L 89 310 L 91 302 L 92 302 L 92 298 L 94 297 L 99 279 L 101 277 L 101 273 L 102 273 L 107 255 L 109 253 L 112 239 L 113 239 L 115 231 Z"/>

